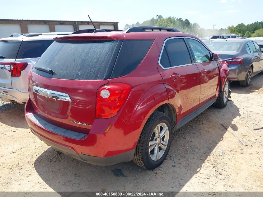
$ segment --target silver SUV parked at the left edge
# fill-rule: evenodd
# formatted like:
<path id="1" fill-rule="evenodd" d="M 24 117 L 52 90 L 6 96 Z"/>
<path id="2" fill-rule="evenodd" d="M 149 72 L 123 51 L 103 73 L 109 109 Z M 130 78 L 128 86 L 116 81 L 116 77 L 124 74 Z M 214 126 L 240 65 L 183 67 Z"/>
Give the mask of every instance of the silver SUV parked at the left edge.
<path id="1" fill-rule="evenodd" d="M 28 99 L 27 74 L 58 35 L 31 33 L 0 39 L 0 100 L 25 103 Z"/>

